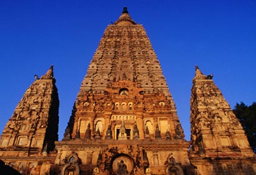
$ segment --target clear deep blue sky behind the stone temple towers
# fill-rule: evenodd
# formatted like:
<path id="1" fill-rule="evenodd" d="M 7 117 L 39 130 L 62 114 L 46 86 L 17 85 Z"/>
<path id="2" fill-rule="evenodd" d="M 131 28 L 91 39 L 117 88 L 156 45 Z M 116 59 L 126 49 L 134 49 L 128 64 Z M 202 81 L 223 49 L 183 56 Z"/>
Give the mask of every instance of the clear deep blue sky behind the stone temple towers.
<path id="1" fill-rule="evenodd" d="M 0 132 L 34 81 L 54 65 L 59 140 L 107 25 L 127 6 L 142 24 L 162 65 L 190 140 L 190 89 L 195 65 L 234 108 L 256 101 L 256 1 L 0 1 Z"/>

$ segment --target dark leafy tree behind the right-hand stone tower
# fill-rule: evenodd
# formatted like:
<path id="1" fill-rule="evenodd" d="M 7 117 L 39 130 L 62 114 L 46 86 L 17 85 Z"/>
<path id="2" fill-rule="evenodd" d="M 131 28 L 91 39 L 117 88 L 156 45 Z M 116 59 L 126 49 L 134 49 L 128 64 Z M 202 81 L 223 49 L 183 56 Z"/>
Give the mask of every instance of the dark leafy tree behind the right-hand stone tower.
<path id="1" fill-rule="evenodd" d="M 245 130 L 250 146 L 256 153 L 256 102 L 250 106 L 243 102 L 237 103 L 233 111 Z"/>

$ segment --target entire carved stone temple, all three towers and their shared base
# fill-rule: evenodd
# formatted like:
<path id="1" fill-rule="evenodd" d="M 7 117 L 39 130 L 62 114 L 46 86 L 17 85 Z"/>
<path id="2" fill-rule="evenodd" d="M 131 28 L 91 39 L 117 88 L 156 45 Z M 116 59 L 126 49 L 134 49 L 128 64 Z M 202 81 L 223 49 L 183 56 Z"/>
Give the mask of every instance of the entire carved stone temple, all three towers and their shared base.
<path id="1" fill-rule="evenodd" d="M 7 123 L 1 159 L 22 174 L 255 174 L 242 126 L 211 78 L 197 68 L 185 141 L 159 60 L 125 7 L 92 57 L 62 141 L 51 67 Z"/>

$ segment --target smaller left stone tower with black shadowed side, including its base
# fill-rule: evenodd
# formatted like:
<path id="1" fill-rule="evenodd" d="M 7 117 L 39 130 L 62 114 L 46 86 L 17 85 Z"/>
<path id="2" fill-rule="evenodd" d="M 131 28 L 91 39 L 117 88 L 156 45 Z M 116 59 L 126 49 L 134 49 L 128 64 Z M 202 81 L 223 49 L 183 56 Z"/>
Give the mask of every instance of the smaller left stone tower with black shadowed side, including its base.
<path id="1" fill-rule="evenodd" d="M 59 97 L 53 67 L 27 88 L 0 139 L 0 157 L 21 174 L 49 171 L 58 140 Z"/>

